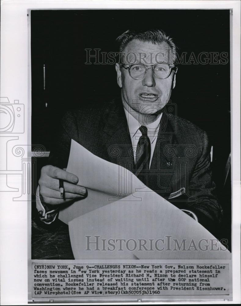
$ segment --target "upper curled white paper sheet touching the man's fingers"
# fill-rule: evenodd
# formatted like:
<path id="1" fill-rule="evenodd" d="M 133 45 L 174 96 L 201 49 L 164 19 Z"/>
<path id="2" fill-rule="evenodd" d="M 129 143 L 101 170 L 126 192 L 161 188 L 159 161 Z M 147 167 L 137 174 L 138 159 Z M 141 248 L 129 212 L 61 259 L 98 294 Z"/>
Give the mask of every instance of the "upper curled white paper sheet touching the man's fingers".
<path id="1" fill-rule="evenodd" d="M 126 168 L 97 157 L 75 140 L 71 140 L 67 171 L 79 177 L 78 185 L 87 188 L 88 196 L 60 211 L 59 219 L 65 223 L 131 195 L 138 188 L 147 188 Z M 141 200 L 134 196 L 132 198 Z"/>

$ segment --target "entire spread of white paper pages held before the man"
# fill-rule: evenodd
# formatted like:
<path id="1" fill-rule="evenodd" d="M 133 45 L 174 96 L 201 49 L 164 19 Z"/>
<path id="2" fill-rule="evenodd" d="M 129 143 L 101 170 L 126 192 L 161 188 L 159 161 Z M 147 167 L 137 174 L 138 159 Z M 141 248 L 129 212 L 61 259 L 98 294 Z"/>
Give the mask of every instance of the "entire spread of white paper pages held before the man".
<path id="1" fill-rule="evenodd" d="M 88 189 L 86 199 L 60 215 L 69 224 L 75 259 L 230 258 L 228 250 L 198 222 L 128 170 L 100 159 L 73 140 L 67 171 Z M 133 193 L 113 199 L 130 179 Z M 121 247 L 118 239 L 123 239 Z"/>

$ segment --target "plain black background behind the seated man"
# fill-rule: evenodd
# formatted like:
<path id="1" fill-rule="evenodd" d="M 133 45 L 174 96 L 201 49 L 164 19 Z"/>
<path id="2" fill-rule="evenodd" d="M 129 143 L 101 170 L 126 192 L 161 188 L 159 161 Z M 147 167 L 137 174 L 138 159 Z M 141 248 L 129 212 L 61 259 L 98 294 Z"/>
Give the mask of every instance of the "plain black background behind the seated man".
<path id="1" fill-rule="evenodd" d="M 115 52 L 116 37 L 133 28 L 164 30 L 187 58 L 192 52 L 228 52 L 225 65 L 179 65 L 171 99 L 177 114 L 206 130 L 214 146 L 214 181 L 225 210 L 222 235 L 230 240 L 230 180 L 223 185 L 230 153 L 229 10 L 32 10 L 32 144 L 49 151 L 51 131 L 66 110 L 119 96 L 114 65 L 86 65 L 85 49 Z"/>

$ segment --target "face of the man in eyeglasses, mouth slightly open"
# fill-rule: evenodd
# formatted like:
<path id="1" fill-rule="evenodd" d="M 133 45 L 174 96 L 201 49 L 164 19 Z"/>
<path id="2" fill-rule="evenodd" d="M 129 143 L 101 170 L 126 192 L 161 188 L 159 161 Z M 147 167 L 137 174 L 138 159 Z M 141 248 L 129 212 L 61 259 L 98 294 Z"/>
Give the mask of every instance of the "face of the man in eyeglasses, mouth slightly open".
<path id="1" fill-rule="evenodd" d="M 123 59 L 126 65 L 142 63 L 149 67 L 156 63 L 172 64 L 174 62 L 174 54 L 165 42 L 153 44 L 132 40 L 124 52 L 126 55 L 129 54 Z M 173 70 L 166 79 L 159 79 L 154 75 L 152 69 L 148 69 L 143 78 L 139 80 L 134 80 L 129 75 L 128 69 L 120 68 L 118 64 L 116 64 L 116 71 L 118 85 L 122 88 L 124 107 L 128 110 L 130 106 L 139 114 L 155 114 L 161 110 L 170 99 L 171 91 L 175 86 Z"/>

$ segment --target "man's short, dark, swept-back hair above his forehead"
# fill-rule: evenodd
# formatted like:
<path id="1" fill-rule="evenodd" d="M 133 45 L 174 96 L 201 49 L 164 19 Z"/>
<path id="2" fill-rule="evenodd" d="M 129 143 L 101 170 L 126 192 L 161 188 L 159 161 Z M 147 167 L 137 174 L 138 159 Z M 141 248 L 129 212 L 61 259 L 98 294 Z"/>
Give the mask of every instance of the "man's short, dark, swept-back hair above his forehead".
<path id="1" fill-rule="evenodd" d="M 141 40 L 144 42 L 151 42 L 154 44 L 166 42 L 174 54 L 177 51 L 177 47 L 173 43 L 173 39 L 170 38 L 170 36 L 167 36 L 164 31 L 155 29 L 148 31 L 127 30 L 116 39 L 119 47 L 119 52 L 123 52 L 127 44 L 130 43 L 133 39 Z"/>

